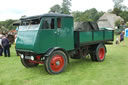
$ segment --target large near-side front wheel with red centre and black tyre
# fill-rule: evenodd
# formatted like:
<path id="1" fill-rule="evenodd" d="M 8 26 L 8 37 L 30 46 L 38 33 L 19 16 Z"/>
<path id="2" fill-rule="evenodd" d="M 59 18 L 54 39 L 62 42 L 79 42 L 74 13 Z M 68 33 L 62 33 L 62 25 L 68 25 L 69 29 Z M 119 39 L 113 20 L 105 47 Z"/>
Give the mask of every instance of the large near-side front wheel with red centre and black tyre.
<path id="1" fill-rule="evenodd" d="M 67 63 L 66 54 L 61 50 L 55 50 L 47 57 L 44 66 L 49 74 L 59 74 L 65 70 Z"/>

